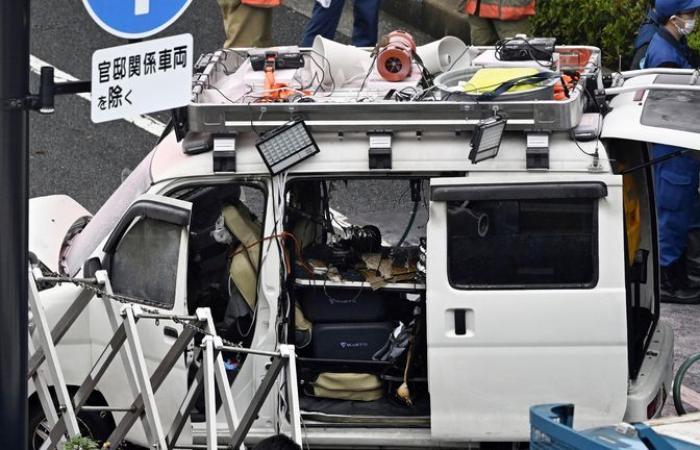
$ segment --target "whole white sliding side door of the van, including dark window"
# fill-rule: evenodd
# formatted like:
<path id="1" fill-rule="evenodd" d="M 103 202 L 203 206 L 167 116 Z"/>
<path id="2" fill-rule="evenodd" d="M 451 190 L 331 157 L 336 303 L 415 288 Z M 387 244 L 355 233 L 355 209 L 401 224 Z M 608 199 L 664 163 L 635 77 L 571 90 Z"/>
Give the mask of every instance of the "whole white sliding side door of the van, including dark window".
<path id="1" fill-rule="evenodd" d="M 622 419 L 623 231 L 621 177 L 431 180 L 434 439 L 527 440 L 529 407 L 541 403 L 574 403 L 577 427 Z"/>

